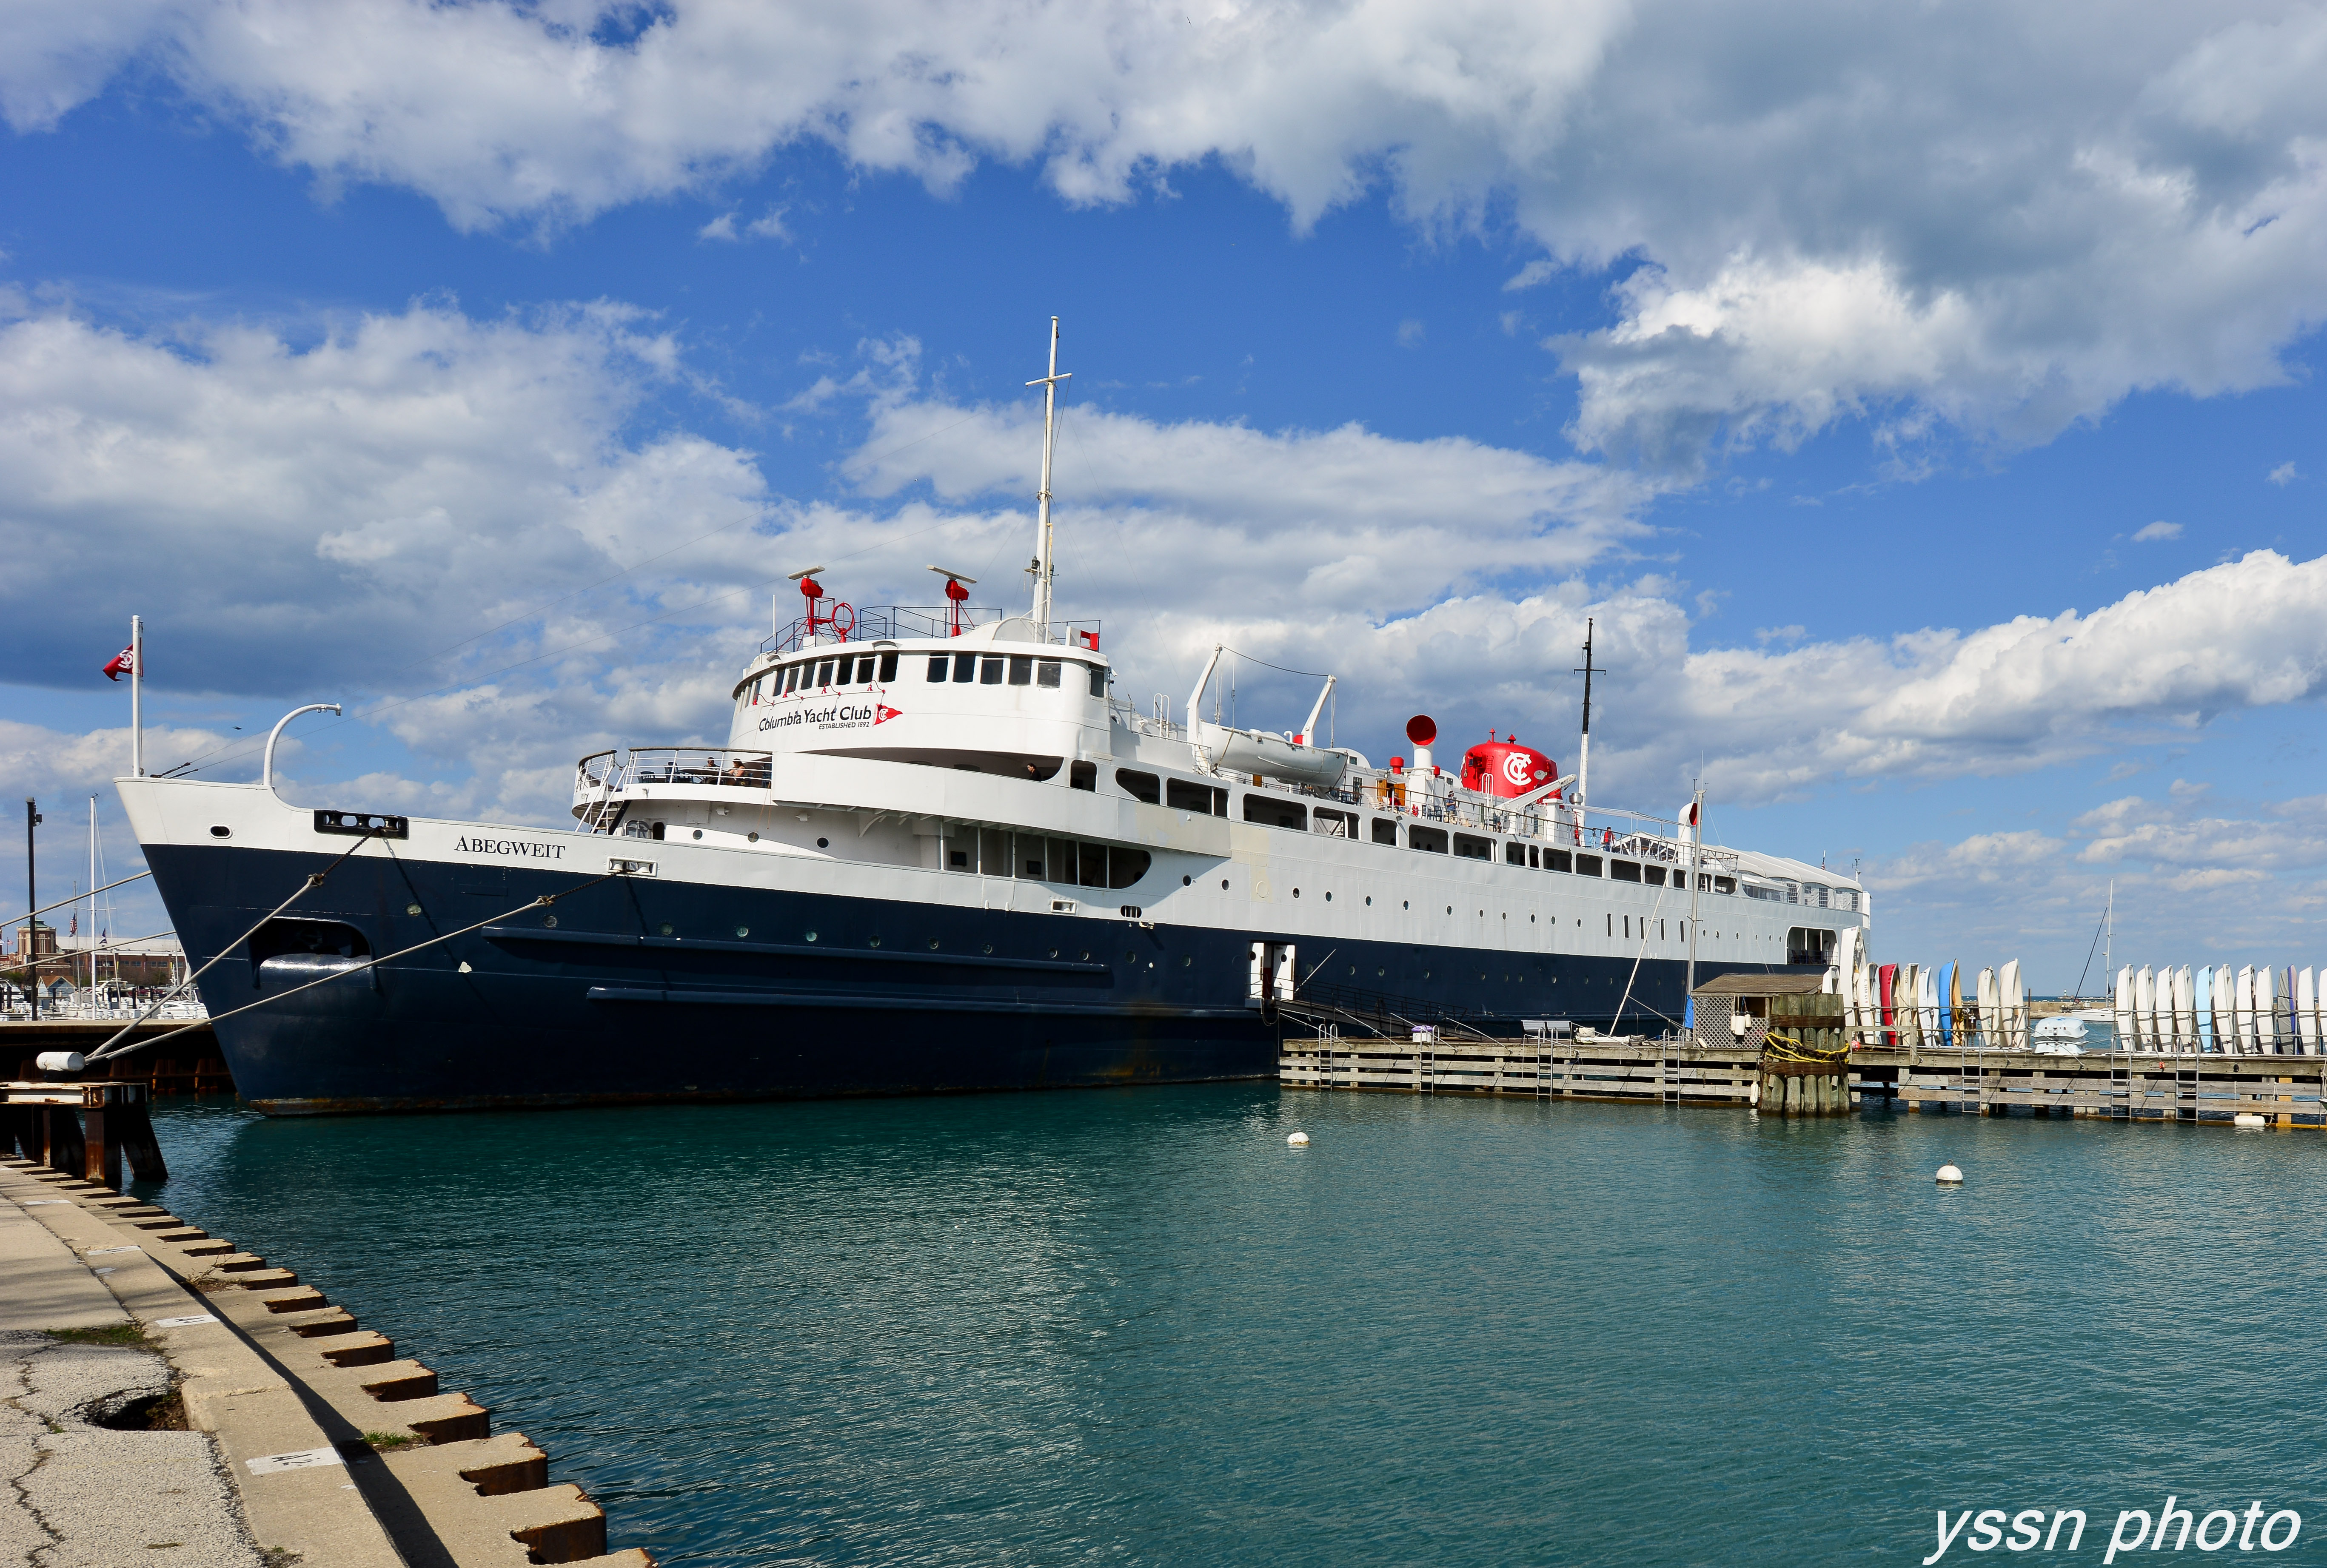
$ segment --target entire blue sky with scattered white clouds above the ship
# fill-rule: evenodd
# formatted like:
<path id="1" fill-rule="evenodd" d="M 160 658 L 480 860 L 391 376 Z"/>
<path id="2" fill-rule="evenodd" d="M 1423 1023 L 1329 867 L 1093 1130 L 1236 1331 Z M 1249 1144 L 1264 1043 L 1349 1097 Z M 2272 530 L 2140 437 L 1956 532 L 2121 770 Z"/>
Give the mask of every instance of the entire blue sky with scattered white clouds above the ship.
<path id="1" fill-rule="evenodd" d="M 1375 756 L 1568 761 L 1594 616 L 1594 793 L 1703 758 L 1878 956 L 2066 984 L 2115 882 L 2134 961 L 2327 958 L 2320 7 L 1036 9 L 19 14 L 44 889 L 93 791 L 133 858 L 130 612 L 158 763 L 344 698 L 286 793 L 556 821 L 724 730 L 752 584 L 1015 603 L 1059 314 L 1061 603 L 1143 700 L 1222 637 Z"/>

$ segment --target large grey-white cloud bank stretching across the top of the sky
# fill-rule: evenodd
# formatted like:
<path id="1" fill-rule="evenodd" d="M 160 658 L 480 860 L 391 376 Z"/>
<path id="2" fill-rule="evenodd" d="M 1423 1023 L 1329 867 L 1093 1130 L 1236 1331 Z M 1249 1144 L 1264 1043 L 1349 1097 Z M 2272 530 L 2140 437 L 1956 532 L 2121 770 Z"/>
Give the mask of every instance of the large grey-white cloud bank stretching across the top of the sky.
<path id="1" fill-rule="evenodd" d="M 468 228 L 800 142 L 935 191 L 1038 165 L 1070 202 L 1219 161 L 1303 228 L 1373 191 L 1431 233 L 1508 212 L 1543 247 L 1508 286 L 1624 272 L 1552 344 L 1575 440 L 1678 465 L 1845 416 L 2045 440 L 2134 389 L 2280 382 L 2327 309 L 2327 12 L 2287 0 L 91 0 L 26 12 L 0 112 L 54 126 L 130 60 Z"/>

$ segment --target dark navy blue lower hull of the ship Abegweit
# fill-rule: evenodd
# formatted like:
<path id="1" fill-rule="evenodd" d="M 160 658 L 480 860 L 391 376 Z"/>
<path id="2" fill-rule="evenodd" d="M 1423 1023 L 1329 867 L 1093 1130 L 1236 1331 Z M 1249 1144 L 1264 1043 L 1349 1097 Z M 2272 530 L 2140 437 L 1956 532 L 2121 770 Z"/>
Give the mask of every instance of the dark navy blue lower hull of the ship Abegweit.
<path id="1" fill-rule="evenodd" d="M 1180 1084 L 1275 1072 L 1247 1003 L 1271 931 L 1143 926 L 691 882 L 151 844 L 240 1093 L 275 1114 Z M 519 910 L 551 893 L 549 910 Z M 417 914 L 412 910 L 419 910 Z M 493 919 L 505 917 L 505 919 Z M 489 921 L 393 963 L 435 935 Z M 286 947 L 286 935 L 296 942 Z M 1305 940 L 1315 942 L 1315 938 Z M 1685 965 L 1317 942 L 1303 979 L 1447 1017 L 1657 1031 Z M 1701 965 L 1699 975 L 1722 968 Z M 351 970 L 298 996 L 298 984 Z M 226 1017 L 249 1003 L 263 1007 Z M 1401 1007 L 1406 1010 L 1406 1007 Z"/>

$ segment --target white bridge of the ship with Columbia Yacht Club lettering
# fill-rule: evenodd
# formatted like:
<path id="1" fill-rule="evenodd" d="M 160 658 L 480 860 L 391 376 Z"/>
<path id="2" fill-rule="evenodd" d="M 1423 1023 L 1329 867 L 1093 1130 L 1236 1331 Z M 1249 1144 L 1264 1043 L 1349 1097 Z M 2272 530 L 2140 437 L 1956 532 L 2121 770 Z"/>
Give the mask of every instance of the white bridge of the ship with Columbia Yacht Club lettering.
<path id="1" fill-rule="evenodd" d="M 814 621 L 814 623 L 812 623 Z M 1112 754 L 1098 623 L 994 610 L 803 616 L 735 682 L 728 747 L 1052 779 Z"/>

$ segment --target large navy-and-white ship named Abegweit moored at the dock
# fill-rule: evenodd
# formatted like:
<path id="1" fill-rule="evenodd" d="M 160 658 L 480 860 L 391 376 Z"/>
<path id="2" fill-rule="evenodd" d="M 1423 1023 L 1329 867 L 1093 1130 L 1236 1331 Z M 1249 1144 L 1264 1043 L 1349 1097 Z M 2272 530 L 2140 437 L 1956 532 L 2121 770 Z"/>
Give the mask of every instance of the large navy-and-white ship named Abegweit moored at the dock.
<path id="1" fill-rule="evenodd" d="M 570 824 L 116 779 L 244 1100 L 268 1114 L 1187 1084 L 1275 1072 L 1301 1005 L 1673 1035 L 1694 979 L 1824 972 L 1857 877 L 1589 800 L 1436 721 L 1375 765 L 1308 724 L 1119 696 L 1033 593 L 866 607 L 794 575 L 726 744 L 579 758 Z M 791 593 L 787 589 L 784 593 Z M 1587 649 L 1585 670 L 1592 670 Z M 142 751 L 137 754 L 142 763 Z M 1855 938 L 1864 952 L 1864 935 Z"/>

